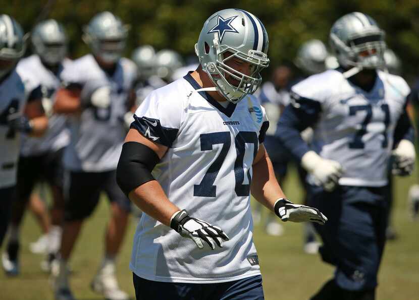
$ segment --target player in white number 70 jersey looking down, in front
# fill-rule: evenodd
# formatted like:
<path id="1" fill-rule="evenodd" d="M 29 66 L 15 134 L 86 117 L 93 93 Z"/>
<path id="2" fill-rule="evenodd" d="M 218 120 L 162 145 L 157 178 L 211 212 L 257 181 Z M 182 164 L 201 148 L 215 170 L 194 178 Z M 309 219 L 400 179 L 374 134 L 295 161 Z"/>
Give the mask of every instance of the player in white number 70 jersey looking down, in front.
<path id="1" fill-rule="evenodd" d="M 283 221 L 327 220 L 285 198 L 266 154 L 269 123 L 251 94 L 267 51 L 254 15 L 219 11 L 195 45 L 197 70 L 136 110 L 117 181 L 144 212 L 130 263 L 137 300 L 263 298 L 250 192 Z"/>

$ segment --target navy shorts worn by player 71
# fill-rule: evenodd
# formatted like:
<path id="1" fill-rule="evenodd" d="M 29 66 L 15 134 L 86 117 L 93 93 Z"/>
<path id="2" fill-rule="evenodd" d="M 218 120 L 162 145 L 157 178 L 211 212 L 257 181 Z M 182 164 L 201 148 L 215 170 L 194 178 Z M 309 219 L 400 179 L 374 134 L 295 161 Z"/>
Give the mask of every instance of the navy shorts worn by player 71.
<path id="1" fill-rule="evenodd" d="M 347 290 L 375 288 L 386 241 L 388 188 L 339 186 L 331 193 L 309 188 L 308 205 L 329 219 L 315 227 L 324 243 L 322 259 L 336 266 L 336 284 Z"/>

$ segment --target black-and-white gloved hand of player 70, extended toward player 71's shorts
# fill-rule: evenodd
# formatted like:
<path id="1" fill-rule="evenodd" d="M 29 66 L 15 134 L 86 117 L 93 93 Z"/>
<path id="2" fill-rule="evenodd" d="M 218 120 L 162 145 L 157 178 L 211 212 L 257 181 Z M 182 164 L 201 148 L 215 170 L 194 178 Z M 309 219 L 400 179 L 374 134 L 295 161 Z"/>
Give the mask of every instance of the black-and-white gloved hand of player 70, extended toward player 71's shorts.
<path id="1" fill-rule="evenodd" d="M 284 222 L 316 222 L 324 225 L 327 221 L 327 217 L 317 208 L 294 204 L 286 198 L 278 199 L 274 209 L 276 215 Z"/>

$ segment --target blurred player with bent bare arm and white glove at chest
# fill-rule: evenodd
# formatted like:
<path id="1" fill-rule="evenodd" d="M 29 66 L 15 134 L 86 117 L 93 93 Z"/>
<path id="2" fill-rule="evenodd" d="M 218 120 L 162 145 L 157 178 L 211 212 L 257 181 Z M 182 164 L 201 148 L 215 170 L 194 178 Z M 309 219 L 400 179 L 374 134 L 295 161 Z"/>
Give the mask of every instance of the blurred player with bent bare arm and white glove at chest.
<path id="1" fill-rule="evenodd" d="M 121 57 L 127 27 L 110 12 L 93 17 L 85 27 L 87 54 L 64 70 L 66 88 L 57 92 L 54 109 L 69 113 L 70 144 L 64 154 L 69 172 L 66 185 L 65 224 L 60 264 L 55 281 L 56 299 L 73 299 L 68 285 L 67 261 L 83 220 L 96 207 L 104 191 L 111 201 L 112 216 L 106 232 L 103 261 L 91 283 L 96 292 L 112 300 L 127 299 L 115 277 L 115 259 L 122 245 L 129 199 L 116 184 L 116 168 L 126 135 L 124 116 L 134 104 L 132 90 L 136 67 Z M 54 268 L 54 267 L 53 267 Z"/>

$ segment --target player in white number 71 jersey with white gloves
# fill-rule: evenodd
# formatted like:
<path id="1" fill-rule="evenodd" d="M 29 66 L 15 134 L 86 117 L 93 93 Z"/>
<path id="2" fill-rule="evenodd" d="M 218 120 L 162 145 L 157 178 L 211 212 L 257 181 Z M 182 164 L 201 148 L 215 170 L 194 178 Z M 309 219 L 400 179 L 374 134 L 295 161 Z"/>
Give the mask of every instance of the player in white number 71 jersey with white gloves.
<path id="1" fill-rule="evenodd" d="M 384 32 L 371 17 L 341 17 L 330 44 L 341 68 L 292 87 L 277 133 L 309 173 L 309 205 L 329 217 L 325 226 L 315 226 L 322 258 L 336 271 L 311 299 L 372 300 L 385 244 L 388 161 L 393 154 L 399 174 L 414 164 L 405 109 L 409 87 L 380 70 Z M 311 149 L 299 134 L 309 126 Z"/>

